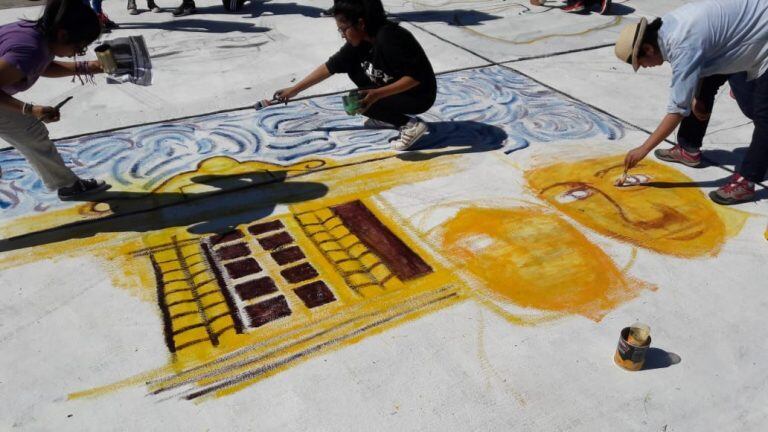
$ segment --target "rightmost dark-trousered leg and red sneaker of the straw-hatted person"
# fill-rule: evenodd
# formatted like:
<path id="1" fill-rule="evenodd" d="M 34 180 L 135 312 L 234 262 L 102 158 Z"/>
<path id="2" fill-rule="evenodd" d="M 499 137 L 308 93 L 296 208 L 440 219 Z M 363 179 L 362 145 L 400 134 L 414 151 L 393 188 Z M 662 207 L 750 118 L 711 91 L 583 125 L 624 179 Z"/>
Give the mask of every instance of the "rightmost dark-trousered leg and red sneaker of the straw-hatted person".
<path id="1" fill-rule="evenodd" d="M 755 197 L 755 183 L 762 182 L 768 172 L 768 74 L 754 80 L 753 86 L 751 93 L 734 92 L 740 107 L 751 106 L 755 129 L 736 174 L 728 184 L 709 194 L 718 204 L 751 201 Z"/>

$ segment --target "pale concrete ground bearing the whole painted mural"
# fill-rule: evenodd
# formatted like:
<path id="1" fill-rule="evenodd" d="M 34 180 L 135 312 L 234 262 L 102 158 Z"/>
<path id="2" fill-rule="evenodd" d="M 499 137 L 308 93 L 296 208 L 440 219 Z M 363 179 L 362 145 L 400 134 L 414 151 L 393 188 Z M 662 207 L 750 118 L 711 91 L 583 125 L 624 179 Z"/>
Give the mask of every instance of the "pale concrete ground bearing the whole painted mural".
<path id="1" fill-rule="evenodd" d="M 1 428 L 763 430 L 768 194 L 706 197 L 751 123 L 724 88 L 705 167 L 649 156 L 646 185 L 611 186 L 670 77 L 611 44 L 683 3 L 385 1 L 439 74 L 429 135 L 398 154 L 344 114 L 343 76 L 250 108 L 341 45 L 329 2 L 106 1 L 103 39 L 143 35 L 153 85 L 18 97 L 73 96 L 51 135 L 112 190 L 61 203 L 0 144 Z M 652 350 L 630 373 L 612 357 L 636 321 Z"/>

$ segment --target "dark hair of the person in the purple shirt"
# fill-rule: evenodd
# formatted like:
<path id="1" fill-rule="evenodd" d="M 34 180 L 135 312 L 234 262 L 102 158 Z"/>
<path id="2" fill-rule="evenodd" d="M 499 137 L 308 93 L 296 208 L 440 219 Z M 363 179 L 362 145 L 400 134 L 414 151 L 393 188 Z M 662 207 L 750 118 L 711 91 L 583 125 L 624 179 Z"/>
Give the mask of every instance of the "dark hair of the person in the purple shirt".
<path id="1" fill-rule="evenodd" d="M 49 42 L 88 45 L 101 34 L 99 17 L 83 0 L 48 0 L 43 16 L 32 23 Z M 59 30 L 67 32 L 66 40 L 58 40 Z"/>

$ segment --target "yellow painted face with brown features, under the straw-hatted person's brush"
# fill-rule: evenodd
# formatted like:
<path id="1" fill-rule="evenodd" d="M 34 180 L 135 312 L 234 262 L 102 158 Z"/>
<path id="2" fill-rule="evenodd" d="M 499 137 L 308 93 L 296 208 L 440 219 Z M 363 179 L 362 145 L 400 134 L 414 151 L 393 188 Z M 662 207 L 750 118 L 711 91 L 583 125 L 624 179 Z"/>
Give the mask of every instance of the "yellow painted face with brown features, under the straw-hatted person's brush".
<path id="1" fill-rule="evenodd" d="M 529 187 L 600 234 L 659 253 L 714 256 L 726 237 L 715 205 L 676 169 L 645 160 L 617 187 L 623 156 L 559 163 L 526 172 Z"/>

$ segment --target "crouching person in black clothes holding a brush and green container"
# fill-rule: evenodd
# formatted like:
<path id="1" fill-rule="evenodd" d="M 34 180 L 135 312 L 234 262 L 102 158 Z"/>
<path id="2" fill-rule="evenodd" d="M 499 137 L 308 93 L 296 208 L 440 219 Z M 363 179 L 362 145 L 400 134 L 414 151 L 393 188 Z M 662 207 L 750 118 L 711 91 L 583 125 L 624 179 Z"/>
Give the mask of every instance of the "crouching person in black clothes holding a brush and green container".
<path id="1" fill-rule="evenodd" d="M 427 111 L 437 96 L 427 55 L 408 30 L 387 20 L 381 0 L 335 0 L 333 15 L 344 46 L 296 85 L 275 92 L 275 99 L 287 101 L 335 73 L 346 73 L 363 96 L 365 125 L 398 128 L 392 147 L 410 148 L 427 125 L 409 115 Z"/>

